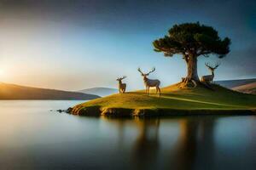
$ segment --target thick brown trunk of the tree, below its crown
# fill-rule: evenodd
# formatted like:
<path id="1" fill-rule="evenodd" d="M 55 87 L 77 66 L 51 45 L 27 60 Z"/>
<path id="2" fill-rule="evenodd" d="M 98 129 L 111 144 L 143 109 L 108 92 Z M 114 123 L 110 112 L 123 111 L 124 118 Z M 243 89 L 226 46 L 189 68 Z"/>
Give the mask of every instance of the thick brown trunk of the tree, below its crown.
<path id="1" fill-rule="evenodd" d="M 188 74 L 187 74 L 187 82 L 194 80 L 195 82 L 199 82 L 199 78 L 197 75 L 197 57 L 189 56 L 189 59 L 186 59 Z"/>

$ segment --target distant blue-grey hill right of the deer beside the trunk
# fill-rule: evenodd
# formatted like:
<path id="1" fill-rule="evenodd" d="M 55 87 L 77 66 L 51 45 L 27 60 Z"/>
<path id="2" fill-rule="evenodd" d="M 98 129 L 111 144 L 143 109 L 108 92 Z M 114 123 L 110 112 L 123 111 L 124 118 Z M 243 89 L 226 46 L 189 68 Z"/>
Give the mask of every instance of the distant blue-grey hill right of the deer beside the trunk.
<path id="1" fill-rule="evenodd" d="M 251 82 L 256 82 L 256 78 L 216 81 L 217 84 L 219 84 L 225 88 L 236 88 L 238 86 L 246 85 Z"/>

